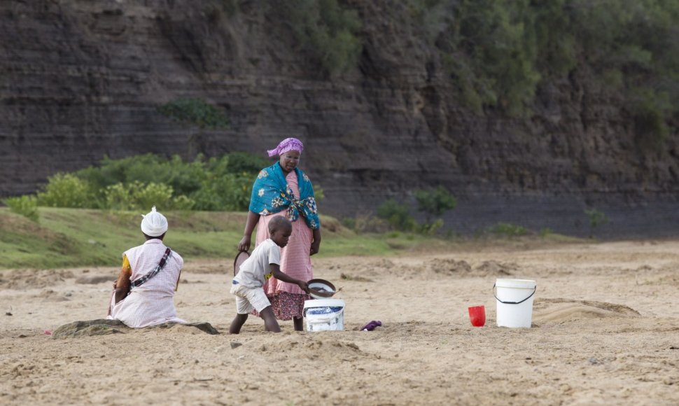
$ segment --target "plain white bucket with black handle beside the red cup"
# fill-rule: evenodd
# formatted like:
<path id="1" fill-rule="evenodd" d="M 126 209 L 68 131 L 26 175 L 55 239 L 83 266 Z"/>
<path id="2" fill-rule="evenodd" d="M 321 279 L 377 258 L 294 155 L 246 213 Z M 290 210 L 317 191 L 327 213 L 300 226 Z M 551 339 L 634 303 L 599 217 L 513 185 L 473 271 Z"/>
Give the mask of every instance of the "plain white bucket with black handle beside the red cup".
<path id="1" fill-rule="evenodd" d="M 493 290 L 497 302 L 498 327 L 531 327 L 535 281 L 526 279 L 498 279 Z"/>

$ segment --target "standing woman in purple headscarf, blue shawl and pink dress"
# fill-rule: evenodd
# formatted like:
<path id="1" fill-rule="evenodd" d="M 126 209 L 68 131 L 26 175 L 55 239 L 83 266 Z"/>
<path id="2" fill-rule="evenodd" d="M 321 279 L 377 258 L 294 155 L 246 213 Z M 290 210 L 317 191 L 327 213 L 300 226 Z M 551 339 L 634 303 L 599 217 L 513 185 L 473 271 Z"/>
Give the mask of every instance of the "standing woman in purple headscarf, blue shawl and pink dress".
<path id="1" fill-rule="evenodd" d="M 257 225 L 257 244 L 269 238 L 269 221 L 274 216 L 286 216 L 293 223 L 288 245 L 281 249 L 281 271 L 295 279 L 314 278 L 311 255 L 321 246 L 321 222 L 318 220 L 314 187 L 297 164 L 304 145 L 296 138 L 286 138 L 267 151 L 279 161 L 262 169 L 255 179 L 250 198 L 248 219 L 238 251 L 250 249 L 252 232 Z M 270 278 L 264 286 L 271 307 L 279 320 L 293 319 L 295 330 L 302 331 L 304 300 L 309 295 L 294 283 Z"/>

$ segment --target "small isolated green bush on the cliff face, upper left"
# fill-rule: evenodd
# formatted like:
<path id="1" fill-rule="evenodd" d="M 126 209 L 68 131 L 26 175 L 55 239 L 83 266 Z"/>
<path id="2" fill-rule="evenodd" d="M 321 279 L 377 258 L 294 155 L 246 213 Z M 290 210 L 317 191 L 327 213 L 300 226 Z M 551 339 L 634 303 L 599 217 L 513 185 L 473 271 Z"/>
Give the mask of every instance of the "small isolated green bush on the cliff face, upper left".
<path id="1" fill-rule="evenodd" d="M 229 118 L 215 106 L 201 99 L 177 99 L 158 107 L 158 112 L 179 123 L 200 128 L 219 129 L 229 126 Z"/>

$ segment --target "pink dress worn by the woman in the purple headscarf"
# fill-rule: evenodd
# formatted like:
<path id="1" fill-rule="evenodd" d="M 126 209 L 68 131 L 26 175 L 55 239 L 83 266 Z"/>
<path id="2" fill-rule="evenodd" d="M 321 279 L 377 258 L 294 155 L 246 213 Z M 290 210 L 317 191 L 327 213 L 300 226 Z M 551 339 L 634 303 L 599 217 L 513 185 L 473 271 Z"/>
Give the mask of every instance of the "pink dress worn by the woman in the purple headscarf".
<path id="1" fill-rule="evenodd" d="M 300 188 L 297 184 L 297 174 L 290 172 L 286 176 L 288 186 L 293 191 L 295 199 L 300 198 Z M 269 216 L 260 216 L 257 223 L 256 244 L 269 238 L 269 221 L 274 216 L 286 216 L 286 210 L 279 211 Z M 314 278 L 314 269 L 311 267 L 311 241 L 314 239 L 314 232 L 311 231 L 304 218 L 300 217 L 293 222 L 293 233 L 290 235 L 288 245 L 281 249 L 281 271 L 295 279 L 308 281 Z M 304 310 L 304 300 L 309 299 L 309 295 L 304 290 L 292 283 L 279 281 L 271 278 L 264 286 L 264 291 L 269 297 L 271 307 L 279 320 L 290 320 L 293 317 L 301 318 Z"/>

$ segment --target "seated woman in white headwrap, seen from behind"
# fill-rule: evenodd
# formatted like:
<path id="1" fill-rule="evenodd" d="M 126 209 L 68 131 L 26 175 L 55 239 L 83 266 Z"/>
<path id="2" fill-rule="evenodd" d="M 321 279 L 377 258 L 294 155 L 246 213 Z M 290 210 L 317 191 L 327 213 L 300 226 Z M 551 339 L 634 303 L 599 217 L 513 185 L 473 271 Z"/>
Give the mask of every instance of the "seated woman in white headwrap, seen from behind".
<path id="1" fill-rule="evenodd" d="M 106 318 L 133 328 L 161 323 L 186 323 L 177 317 L 174 292 L 179 286 L 183 259 L 162 243 L 167 218 L 155 211 L 142 216 L 146 242 L 123 253 L 123 269 L 116 283 Z"/>

